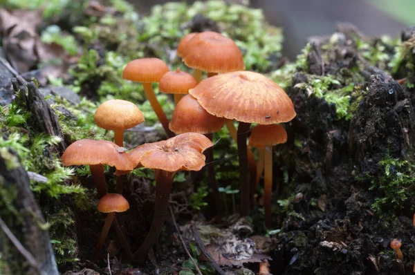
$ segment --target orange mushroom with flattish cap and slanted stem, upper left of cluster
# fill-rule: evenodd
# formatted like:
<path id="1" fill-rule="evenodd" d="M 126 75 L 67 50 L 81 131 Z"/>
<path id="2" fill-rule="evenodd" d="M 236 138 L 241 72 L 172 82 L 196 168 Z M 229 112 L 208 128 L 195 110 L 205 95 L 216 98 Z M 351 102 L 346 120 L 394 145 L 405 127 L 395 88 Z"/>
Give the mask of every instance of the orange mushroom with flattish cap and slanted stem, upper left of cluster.
<path id="1" fill-rule="evenodd" d="M 160 81 L 160 78 L 169 71 L 167 64 L 158 58 L 141 58 L 129 61 L 122 72 L 122 78 L 133 82 L 140 82 L 144 87 L 145 96 L 156 113 L 158 120 L 165 129 L 167 136 L 172 138 L 174 133 L 169 129 L 169 120 L 161 108 L 160 103 L 154 94 L 152 83 Z"/>

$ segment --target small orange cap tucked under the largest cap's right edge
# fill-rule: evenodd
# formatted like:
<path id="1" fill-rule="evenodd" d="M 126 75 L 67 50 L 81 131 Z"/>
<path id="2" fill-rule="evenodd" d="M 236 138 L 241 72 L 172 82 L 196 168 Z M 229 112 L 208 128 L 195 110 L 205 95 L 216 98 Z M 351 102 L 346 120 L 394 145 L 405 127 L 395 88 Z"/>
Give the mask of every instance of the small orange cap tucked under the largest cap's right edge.
<path id="1" fill-rule="evenodd" d="M 254 147 L 264 147 L 286 143 L 287 132 L 284 127 L 278 124 L 257 125 L 252 129 L 249 137 L 249 145 Z"/>

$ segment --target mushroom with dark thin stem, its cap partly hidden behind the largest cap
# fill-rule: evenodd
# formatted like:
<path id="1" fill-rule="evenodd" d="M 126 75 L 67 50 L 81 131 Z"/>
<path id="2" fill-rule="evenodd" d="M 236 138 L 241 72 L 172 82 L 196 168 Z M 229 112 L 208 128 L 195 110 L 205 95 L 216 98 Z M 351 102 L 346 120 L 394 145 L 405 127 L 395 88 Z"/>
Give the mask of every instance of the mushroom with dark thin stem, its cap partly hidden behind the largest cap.
<path id="1" fill-rule="evenodd" d="M 176 134 L 181 133 L 201 133 L 212 140 L 212 133 L 216 133 L 222 129 L 225 124 L 223 117 L 215 117 L 208 113 L 192 95 L 185 95 L 176 108 L 174 108 L 172 115 L 172 122 L 170 122 L 170 130 Z M 213 162 L 212 147 L 206 149 L 206 158 L 208 162 Z M 223 216 L 224 207 L 219 193 L 219 187 L 216 183 L 216 176 L 214 173 L 213 163 L 208 167 L 208 182 L 213 192 L 215 207 L 217 211 L 217 218 Z"/>

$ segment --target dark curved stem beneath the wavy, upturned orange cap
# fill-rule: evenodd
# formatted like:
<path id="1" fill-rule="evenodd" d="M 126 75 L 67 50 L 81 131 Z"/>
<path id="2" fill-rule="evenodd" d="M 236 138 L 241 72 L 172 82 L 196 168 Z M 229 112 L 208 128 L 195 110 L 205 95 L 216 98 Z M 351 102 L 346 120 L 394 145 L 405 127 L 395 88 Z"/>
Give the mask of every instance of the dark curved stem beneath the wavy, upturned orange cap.
<path id="1" fill-rule="evenodd" d="M 173 177 L 176 172 L 163 171 L 154 169 L 154 178 L 156 180 L 156 196 L 154 199 L 154 218 L 151 228 L 144 243 L 133 254 L 133 259 L 142 262 L 147 257 L 149 249 L 156 243 L 160 235 L 167 207 L 169 205 L 170 191 L 172 190 Z"/>

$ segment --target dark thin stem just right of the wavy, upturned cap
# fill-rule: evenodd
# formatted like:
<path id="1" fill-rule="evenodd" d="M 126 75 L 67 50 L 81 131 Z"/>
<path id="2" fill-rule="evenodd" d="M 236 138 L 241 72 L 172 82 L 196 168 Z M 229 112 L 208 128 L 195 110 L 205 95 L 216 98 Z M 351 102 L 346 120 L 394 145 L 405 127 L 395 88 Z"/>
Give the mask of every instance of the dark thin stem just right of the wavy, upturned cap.
<path id="1" fill-rule="evenodd" d="M 212 133 L 208 133 L 205 135 L 207 138 L 212 140 Z M 205 150 L 206 155 L 206 169 L 208 170 L 208 182 L 210 189 L 212 189 L 213 193 L 213 199 L 214 199 L 214 205 L 216 208 L 217 216 L 216 219 L 221 219 L 223 216 L 223 213 L 225 211 L 223 202 L 221 200 L 221 194 L 219 193 L 219 186 L 216 182 L 216 176 L 214 173 L 214 157 L 213 157 L 213 149 L 212 147 Z"/>

